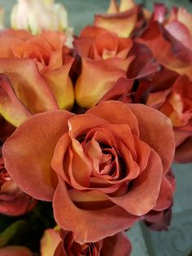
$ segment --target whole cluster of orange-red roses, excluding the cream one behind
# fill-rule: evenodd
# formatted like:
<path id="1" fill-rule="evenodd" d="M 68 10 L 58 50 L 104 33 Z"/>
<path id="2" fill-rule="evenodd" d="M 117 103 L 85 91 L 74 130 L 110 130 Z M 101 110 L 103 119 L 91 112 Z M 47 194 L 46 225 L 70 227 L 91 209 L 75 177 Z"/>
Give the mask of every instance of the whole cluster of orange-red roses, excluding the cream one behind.
<path id="1" fill-rule="evenodd" d="M 170 166 L 192 161 L 191 24 L 183 8 L 111 0 L 71 46 L 41 25 L 1 31 L 0 212 L 52 201 L 41 255 L 127 256 L 134 223 L 167 229 Z"/>

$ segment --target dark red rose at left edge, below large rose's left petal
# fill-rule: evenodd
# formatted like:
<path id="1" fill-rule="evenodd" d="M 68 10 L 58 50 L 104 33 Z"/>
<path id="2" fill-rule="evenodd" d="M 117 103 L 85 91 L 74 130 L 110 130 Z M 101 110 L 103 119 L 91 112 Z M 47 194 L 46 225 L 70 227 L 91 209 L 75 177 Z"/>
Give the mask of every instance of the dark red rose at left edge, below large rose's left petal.
<path id="1" fill-rule="evenodd" d="M 20 190 L 4 166 L 0 148 L 0 213 L 17 216 L 32 210 L 36 201 Z"/>

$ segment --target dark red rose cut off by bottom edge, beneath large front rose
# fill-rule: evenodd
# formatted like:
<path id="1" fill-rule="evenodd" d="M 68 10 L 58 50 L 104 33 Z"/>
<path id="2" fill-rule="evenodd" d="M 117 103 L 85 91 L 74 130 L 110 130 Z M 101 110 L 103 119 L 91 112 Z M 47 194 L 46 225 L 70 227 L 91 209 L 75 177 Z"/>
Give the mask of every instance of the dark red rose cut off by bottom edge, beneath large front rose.
<path id="1" fill-rule="evenodd" d="M 129 256 L 131 252 L 131 244 L 124 232 L 107 237 L 103 241 L 83 245 L 74 241 L 72 232 L 61 230 L 60 235 L 62 241 L 55 250 L 54 256 Z"/>

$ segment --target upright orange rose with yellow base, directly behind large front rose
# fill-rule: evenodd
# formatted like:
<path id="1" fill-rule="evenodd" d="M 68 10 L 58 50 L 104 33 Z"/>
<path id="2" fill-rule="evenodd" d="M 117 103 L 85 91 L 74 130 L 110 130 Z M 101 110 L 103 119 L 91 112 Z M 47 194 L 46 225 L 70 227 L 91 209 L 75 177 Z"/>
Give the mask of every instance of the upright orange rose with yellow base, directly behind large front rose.
<path id="1" fill-rule="evenodd" d="M 76 102 L 82 108 L 91 108 L 118 78 L 126 77 L 134 58 L 128 58 L 133 42 L 118 38 L 107 29 L 89 26 L 74 40 L 74 46 L 82 58 L 81 75 L 75 86 Z"/>

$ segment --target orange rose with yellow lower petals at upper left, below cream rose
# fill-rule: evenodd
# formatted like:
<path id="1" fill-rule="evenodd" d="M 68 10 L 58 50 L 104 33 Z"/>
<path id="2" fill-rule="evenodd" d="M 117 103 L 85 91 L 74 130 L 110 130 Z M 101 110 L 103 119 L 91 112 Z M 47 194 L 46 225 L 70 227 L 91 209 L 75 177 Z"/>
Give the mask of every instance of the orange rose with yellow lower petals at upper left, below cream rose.
<path id="1" fill-rule="evenodd" d="M 8 29 L 0 34 L 0 73 L 6 74 L 11 82 L 2 82 L 1 90 L 7 91 L 9 101 L 15 95 L 14 103 L 24 104 L 27 108 L 24 115 L 26 112 L 33 114 L 72 108 L 73 86 L 68 73 L 73 59 L 68 55 L 65 41 L 66 35 L 59 32 L 46 31 L 33 37 L 25 30 Z M 15 118 L 13 102 L 5 110 L 5 104 L 2 104 L 4 95 L 0 94 L 0 113 L 11 124 L 18 126 L 23 119 Z"/>

